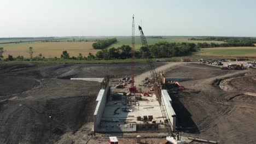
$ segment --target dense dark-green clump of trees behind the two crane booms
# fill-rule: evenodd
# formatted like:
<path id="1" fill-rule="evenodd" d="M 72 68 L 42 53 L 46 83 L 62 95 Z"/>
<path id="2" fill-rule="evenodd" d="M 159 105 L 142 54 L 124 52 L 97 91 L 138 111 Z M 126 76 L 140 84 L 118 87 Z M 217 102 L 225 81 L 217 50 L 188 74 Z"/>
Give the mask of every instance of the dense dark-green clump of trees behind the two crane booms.
<path id="1" fill-rule="evenodd" d="M 136 58 L 162 58 L 162 57 L 176 57 L 187 56 L 196 51 L 196 44 L 194 43 L 168 43 L 159 42 L 149 47 L 141 47 L 139 51 L 135 51 Z M 120 47 L 112 47 L 98 51 L 95 55 L 96 59 L 126 59 L 131 58 L 131 47 L 129 45 L 122 45 Z"/>

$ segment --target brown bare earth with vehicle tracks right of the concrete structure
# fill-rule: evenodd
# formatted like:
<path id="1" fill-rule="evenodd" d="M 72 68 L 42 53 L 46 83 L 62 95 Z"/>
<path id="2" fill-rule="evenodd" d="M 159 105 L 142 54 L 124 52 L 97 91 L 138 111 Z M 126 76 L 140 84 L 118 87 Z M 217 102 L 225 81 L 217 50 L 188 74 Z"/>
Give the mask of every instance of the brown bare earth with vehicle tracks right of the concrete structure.
<path id="1" fill-rule="evenodd" d="M 256 143 L 256 97 L 246 94 L 256 91 L 256 69 L 220 70 L 187 63 L 167 71 L 166 77 L 193 77 L 180 82 L 183 92 L 171 95 L 184 135 L 219 143 Z"/>

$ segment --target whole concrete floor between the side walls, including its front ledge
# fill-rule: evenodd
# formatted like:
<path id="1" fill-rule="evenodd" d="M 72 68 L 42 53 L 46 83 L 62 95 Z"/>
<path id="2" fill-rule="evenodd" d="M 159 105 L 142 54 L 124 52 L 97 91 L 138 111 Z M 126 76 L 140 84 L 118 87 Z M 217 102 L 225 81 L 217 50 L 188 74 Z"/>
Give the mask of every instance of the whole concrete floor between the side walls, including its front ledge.
<path id="1" fill-rule="evenodd" d="M 132 96 L 132 98 L 135 98 Z M 141 99 L 127 103 L 128 95 L 122 93 L 114 93 L 109 95 L 106 107 L 101 117 L 99 131 L 108 132 L 128 132 L 128 131 L 158 131 L 165 130 L 164 122 L 158 100 L 156 96 L 144 97 Z M 156 123 L 152 121 L 143 122 L 138 120 L 140 116 L 153 116 Z"/>

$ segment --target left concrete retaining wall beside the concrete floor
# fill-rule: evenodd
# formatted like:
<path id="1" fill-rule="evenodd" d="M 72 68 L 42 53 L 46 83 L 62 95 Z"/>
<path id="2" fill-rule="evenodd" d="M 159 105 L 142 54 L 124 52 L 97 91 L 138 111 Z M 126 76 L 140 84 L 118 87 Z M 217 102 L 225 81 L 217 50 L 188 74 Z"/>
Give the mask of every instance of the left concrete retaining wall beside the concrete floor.
<path id="1" fill-rule="evenodd" d="M 96 109 L 94 111 L 94 131 L 97 131 L 98 127 L 100 127 L 101 117 L 107 103 L 108 92 L 109 83 L 107 84 L 107 87 L 105 89 L 101 89 L 100 92 L 98 92 L 98 96 L 96 99 Z"/>

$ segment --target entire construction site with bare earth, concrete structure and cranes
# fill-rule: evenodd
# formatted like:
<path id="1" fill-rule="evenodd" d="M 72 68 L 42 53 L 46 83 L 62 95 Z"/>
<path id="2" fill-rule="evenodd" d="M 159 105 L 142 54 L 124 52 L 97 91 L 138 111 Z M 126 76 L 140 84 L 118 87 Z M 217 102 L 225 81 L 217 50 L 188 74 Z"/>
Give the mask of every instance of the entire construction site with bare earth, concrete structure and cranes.
<path id="1" fill-rule="evenodd" d="M 1 67 L 0 143 L 255 143 L 255 67 L 136 63 L 132 20 L 131 63 Z"/>

